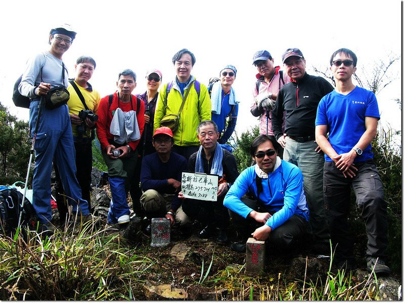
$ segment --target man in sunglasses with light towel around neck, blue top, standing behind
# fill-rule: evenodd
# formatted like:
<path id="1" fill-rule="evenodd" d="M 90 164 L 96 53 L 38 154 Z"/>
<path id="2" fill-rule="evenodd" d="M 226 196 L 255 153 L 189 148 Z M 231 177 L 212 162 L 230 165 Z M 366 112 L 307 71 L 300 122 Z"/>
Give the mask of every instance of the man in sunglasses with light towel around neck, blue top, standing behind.
<path id="1" fill-rule="evenodd" d="M 226 65 L 220 71 L 219 77 L 220 81 L 215 82 L 211 89 L 211 114 L 220 134 L 218 143 L 225 145 L 235 130 L 239 108 L 239 100 L 232 88 L 236 67 Z"/>

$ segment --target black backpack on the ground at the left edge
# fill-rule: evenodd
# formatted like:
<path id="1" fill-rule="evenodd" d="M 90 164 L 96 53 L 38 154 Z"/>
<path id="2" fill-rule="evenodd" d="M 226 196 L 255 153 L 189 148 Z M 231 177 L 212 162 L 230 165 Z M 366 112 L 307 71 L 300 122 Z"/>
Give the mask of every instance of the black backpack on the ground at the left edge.
<path id="1" fill-rule="evenodd" d="M 21 201 L 23 194 L 16 188 L 9 186 L 0 186 L 0 223 L 2 228 L 0 232 L 5 234 L 13 233 L 17 230 L 20 212 L 22 212 L 21 226 L 35 228 L 36 213 L 31 202 L 27 198 L 24 200 L 23 208 L 21 209 Z"/>

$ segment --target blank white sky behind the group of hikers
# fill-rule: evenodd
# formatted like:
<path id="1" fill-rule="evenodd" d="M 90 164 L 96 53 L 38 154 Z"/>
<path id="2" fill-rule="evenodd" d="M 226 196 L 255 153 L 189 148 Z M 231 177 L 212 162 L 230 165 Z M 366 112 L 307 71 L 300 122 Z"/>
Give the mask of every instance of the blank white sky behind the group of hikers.
<path id="1" fill-rule="evenodd" d="M 101 96 L 116 90 L 118 73 L 131 68 L 137 74 L 134 94 L 146 89 L 145 73 L 163 72 L 163 81 L 175 75 L 173 55 L 182 48 L 194 53 L 192 74 L 205 84 L 226 64 L 237 68 L 234 89 L 241 99 L 236 131 L 240 135 L 258 120 L 250 113 L 256 81 L 253 54 L 268 50 L 276 65 L 282 53 L 298 47 L 311 67 L 327 67 L 330 55 L 345 47 L 358 57 L 357 69 L 393 52 L 401 55 L 401 2 L 386 1 L 8 1 L 0 18 L 0 101 L 11 113 L 28 120 L 28 110 L 14 106 L 15 80 L 26 60 L 49 49 L 49 31 L 71 24 L 76 39 L 64 54 L 69 76 L 80 55 L 97 63 L 91 83 Z M 398 79 L 377 96 L 383 123 L 401 128 L 401 112 L 393 101 L 401 98 Z"/>

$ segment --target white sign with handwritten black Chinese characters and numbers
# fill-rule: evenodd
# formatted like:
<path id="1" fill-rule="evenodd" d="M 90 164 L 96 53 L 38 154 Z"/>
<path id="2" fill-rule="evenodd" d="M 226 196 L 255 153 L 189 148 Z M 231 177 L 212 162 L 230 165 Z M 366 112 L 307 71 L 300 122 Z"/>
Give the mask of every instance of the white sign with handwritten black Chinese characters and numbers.
<path id="1" fill-rule="evenodd" d="M 217 201 L 218 176 L 183 171 L 181 190 L 186 198 Z"/>

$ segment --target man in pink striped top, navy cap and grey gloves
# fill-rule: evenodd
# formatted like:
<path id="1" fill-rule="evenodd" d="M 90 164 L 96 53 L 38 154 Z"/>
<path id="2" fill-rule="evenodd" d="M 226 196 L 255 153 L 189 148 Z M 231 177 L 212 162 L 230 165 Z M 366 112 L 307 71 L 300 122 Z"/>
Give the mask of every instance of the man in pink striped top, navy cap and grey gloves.
<path id="1" fill-rule="evenodd" d="M 254 103 L 251 113 L 255 117 L 260 116 L 259 134 L 274 136 L 271 128 L 271 109 L 274 106 L 279 90 L 290 82 L 287 73 L 283 73 L 279 66 L 274 66 L 274 59 L 266 50 L 257 51 L 253 56 L 253 65 L 256 66 L 256 84 L 253 89 Z M 285 126 L 283 116 L 282 130 Z M 282 148 L 279 146 L 278 155 L 282 158 Z"/>

